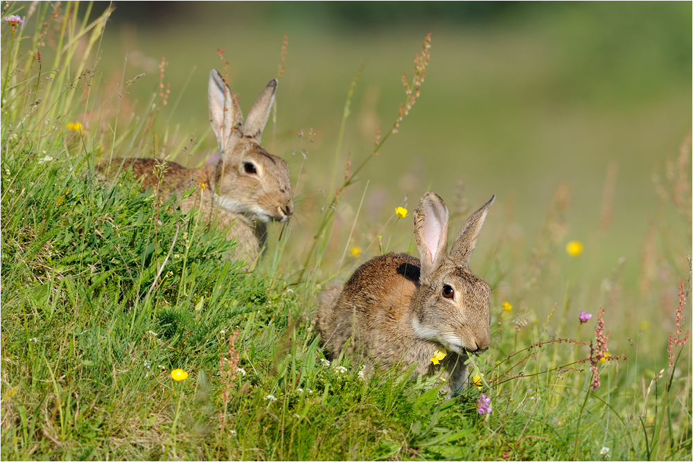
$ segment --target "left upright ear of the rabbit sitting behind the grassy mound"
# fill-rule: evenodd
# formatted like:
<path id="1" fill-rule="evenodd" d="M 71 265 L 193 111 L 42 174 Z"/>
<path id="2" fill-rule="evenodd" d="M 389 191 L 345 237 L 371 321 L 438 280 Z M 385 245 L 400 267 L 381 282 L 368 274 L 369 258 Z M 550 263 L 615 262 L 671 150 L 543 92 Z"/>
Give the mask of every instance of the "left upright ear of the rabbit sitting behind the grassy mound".
<path id="1" fill-rule="evenodd" d="M 219 150 L 225 152 L 229 147 L 231 134 L 236 128 L 234 125 L 243 124 L 243 114 L 234 103 L 234 95 L 231 94 L 229 86 L 215 69 L 209 73 L 207 97 L 209 98 L 209 122 L 216 134 Z"/>

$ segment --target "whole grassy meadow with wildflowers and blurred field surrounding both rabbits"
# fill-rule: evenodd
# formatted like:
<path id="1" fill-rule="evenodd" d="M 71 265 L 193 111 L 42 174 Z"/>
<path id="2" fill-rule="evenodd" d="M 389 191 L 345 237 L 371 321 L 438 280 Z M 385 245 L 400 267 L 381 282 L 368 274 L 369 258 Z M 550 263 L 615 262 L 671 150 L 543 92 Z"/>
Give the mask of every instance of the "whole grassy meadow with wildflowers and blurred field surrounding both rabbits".
<path id="1" fill-rule="evenodd" d="M 362 28 L 177 8 L 3 3 L 1 459 L 690 460 L 690 4 Z M 296 215 L 252 271 L 94 172 L 207 161 L 213 68 L 244 110 L 279 76 L 263 144 Z M 368 258 L 418 256 L 426 190 L 453 231 L 497 195 L 470 264 L 492 344 L 449 400 L 328 362 L 313 321 Z"/>

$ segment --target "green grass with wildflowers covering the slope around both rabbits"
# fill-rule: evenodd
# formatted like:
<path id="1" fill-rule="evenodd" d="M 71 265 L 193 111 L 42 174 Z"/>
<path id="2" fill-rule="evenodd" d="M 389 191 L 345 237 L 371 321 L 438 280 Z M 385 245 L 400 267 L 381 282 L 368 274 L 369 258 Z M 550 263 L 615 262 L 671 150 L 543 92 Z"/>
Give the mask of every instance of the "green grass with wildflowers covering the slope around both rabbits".
<path id="1" fill-rule="evenodd" d="M 33 13 L 39 24 L 52 8 Z M 284 229 L 257 271 L 246 272 L 227 258 L 234 243 L 224 230 L 196 211 L 182 214 L 177 199 L 142 192 L 132 179 L 111 185 L 94 175 L 100 159 L 162 146 L 190 153 L 200 140 L 151 105 L 116 114 L 127 98 L 120 89 L 111 96 L 92 69 L 104 18 L 89 28 L 94 18 L 70 21 L 64 12 L 76 7 L 62 8 L 59 53 L 37 44 L 35 18 L 14 34 L 2 26 L 1 459 L 690 460 L 691 343 L 667 364 L 682 279 L 690 295 L 690 142 L 660 175 L 665 213 L 635 249 L 637 278 L 625 276 L 624 261 L 599 258 L 610 241 L 598 226 L 584 254 L 565 254 L 565 188 L 541 204 L 534 237 L 520 236 L 510 205 L 494 206 L 498 225 L 482 233 L 472 262 L 493 287 L 493 345 L 471 364 L 484 374 L 480 388 L 447 400 L 435 377 L 392 370 L 364 380 L 349 357 L 327 365 L 312 321 L 321 286 L 362 262 L 351 247 L 405 250 L 408 220 L 390 213 L 380 218 L 382 238 L 365 236 L 358 211 L 362 195 L 371 197 L 366 181 L 336 199 L 328 190 L 297 206 L 309 229 Z M 10 44 L 22 52 L 10 53 Z M 41 73 L 24 51 L 36 49 Z M 394 121 L 396 106 L 387 114 Z M 76 121 L 86 129 L 69 130 Z M 344 133 L 344 145 L 331 145 L 338 169 Z M 306 131 L 287 143 L 308 148 L 309 138 Z M 392 156 L 393 139 L 374 159 Z M 352 173 L 363 159 L 354 155 Z M 370 175 L 366 168 L 358 178 Z M 333 199 L 335 208 L 322 208 Z M 448 200 L 455 210 L 465 202 L 462 190 Z M 391 229 L 404 237 L 391 240 Z M 291 247 L 304 234 L 309 244 Z M 575 341 L 595 339 L 599 306 L 620 359 L 597 363 L 601 387 L 590 391 L 589 347 Z M 690 301 L 682 308 L 690 313 Z M 579 326 L 581 310 L 594 317 Z M 176 368 L 186 380 L 172 379 Z M 491 397 L 492 414 L 477 413 L 480 393 Z"/>

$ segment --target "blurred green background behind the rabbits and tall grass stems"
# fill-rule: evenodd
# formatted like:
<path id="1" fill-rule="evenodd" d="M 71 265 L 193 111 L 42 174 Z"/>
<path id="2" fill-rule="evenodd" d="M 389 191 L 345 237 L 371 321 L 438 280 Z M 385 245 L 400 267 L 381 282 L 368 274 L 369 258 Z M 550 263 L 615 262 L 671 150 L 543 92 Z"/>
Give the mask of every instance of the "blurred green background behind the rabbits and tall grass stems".
<path id="1" fill-rule="evenodd" d="M 263 143 L 289 161 L 294 184 L 303 162 L 294 151 L 307 150 L 297 184 L 293 254 L 304 251 L 317 228 L 310 211 L 319 211 L 321 190 L 330 187 L 356 71 L 365 66 L 339 177 L 348 152 L 358 165 L 373 148 L 376 127 L 392 126 L 405 98 L 401 76 L 411 77 L 412 58 L 428 31 L 431 62 L 421 97 L 360 175 L 369 186 L 348 246 L 366 248 L 378 232 L 389 233 L 391 225 L 383 225 L 405 194 L 410 210 L 426 190 L 450 204 L 464 179 L 469 208 L 498 197 L 480 247 L 489 247 L 500 231 L 529 247 L 556 188 L 567 184 L 565 240 L 588 244 L 588 260 L 604 267 L 597 277 L 626 256 L 635 263 L 626 265 L 632 280 L 648 227 L 674 215 L 660 203 L 651 177 L 667 156 L 678 154 L 691 130 L 690 2 L 113 4 L 117 9 L 100 46 L 100 83 L 108 88 L 146 71 L 128 89 L 128 99 L 141 110 L 159 91 L 158 65 L 165 57 L 170 99 L 157 123 L 180 124 L 179 131 L 196 140 L 209 129 L 207 75 L 223 66 L 217 49 L 225 51 L 231 89 L 247 113 L 277 75 L 288 34 L 277 123 L 270 121 Z M 301 130 L 315 132 L 310 143 L 308 136 L 299 138 Z M 207 136 L 202 145 L 216 143 Z M 188 163 L 186 154 L 177 161 Z M 610 163 L 615 189 L 606 225 L 602 198 Z M 340 206 L 337 225 L 341 220 L 344 226 L 331 241 L 337 259 L 365 184 L 349 189 Z M 690 230 L 676 238 L 690 238 Z M 391 247 L 406 250 L 410 239 L 407 220 L 398 224 Z M 690 249 L 690 242 L 680 244 Z M 371 247 L 365 256 L 376 251 Z M 480 259 L 478 254 L 484 252 L 477 252 Z"/>

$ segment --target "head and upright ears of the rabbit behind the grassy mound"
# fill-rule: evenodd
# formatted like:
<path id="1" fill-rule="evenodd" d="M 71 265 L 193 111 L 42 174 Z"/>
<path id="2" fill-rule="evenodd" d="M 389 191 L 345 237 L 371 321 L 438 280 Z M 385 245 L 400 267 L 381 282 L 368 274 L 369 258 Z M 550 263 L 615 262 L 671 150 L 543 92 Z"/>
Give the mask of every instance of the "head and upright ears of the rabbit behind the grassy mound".
<path id="1" fill-rule="evenodd" d="M 294 209 L 288 164 L 260 143 L 276 90 L 277 80 L 270 80 L 244 123 L 220 73 L 209 73 L 209 121 L 221 154 L 216 170 L 219 206 L 263 222 L 286 222 Z"/>

